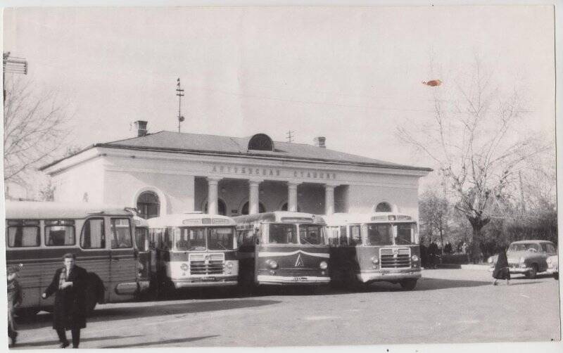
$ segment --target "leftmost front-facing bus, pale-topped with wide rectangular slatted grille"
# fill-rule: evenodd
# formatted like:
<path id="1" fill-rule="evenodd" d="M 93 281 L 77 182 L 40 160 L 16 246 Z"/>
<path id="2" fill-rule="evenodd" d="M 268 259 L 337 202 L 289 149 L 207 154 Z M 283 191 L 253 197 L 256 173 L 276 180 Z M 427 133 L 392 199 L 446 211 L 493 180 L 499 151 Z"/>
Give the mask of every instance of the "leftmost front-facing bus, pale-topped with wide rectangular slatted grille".
<path id="1" fill-rule="evenodd" d="M 235 223 L 201 212 L 147 220 L 151 278 L 159 290 L 236 285 Z"/>

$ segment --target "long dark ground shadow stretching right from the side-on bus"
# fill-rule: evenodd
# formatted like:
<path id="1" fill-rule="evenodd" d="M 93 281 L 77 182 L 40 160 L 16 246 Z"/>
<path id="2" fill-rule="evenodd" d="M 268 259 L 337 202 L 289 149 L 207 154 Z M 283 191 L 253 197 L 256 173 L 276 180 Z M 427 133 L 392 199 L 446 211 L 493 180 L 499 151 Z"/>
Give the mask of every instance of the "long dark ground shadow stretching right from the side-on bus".
<path id="1" fill-rule="evenodd" d="M 94 313 L 87 319 L 87 322 L 122 320 L 132 318 L 146 318 L 160 315 L 183 315 L 198 312 L 215 312 L 217 310 L 240 309 L 248 307 L 262 307 L 264 305 L 278 304 L 279 300 L 260 300 L 260 299 L 242 299 L 242 300 L 220 300 L 214 302 L 182 302 L 174 304 L 164 304 L 163 302 L 155 302 L 151 306 L 139 305 L 134 302 L 128 307 L 103 307 L 94 310 Z M 34 320 L 24 321 L 19 319 L 18 322 L 29 323 L 31 328 L 40 328 L 50 326 L 52 320 L 51 314 L 40 314 L 35 316 Z"/>

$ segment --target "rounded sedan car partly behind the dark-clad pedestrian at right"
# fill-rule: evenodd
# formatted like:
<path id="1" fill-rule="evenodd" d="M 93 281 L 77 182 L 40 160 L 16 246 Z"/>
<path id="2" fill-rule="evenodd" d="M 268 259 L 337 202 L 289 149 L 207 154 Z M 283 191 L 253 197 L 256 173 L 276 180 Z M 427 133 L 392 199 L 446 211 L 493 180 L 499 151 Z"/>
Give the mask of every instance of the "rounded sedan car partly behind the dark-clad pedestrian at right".
<path id="1" fill-rule="evenodd" d="M 524 274 L 527 278 L 536 278 L 538 272 L 548 270 L 548 257 L 557 255 L 557 248 L 547 240 L 521 240 L 510 244 L 506 255 L 510 274 Z M 492 271 L 497 256 L 488 258 Z"/>

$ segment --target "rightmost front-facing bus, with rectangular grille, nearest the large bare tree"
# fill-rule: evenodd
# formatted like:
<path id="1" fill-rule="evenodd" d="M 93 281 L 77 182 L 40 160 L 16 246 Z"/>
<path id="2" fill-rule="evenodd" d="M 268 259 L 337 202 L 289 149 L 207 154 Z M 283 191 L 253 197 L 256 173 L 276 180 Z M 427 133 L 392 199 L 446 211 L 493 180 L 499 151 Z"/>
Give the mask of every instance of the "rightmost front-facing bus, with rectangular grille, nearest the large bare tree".
<path id="1" fill-rule="evenodd" d="M 412 290 L 421 277 L 417 222 L 406 214 L 337 213 L 325 217 L 335 283 L 400 283 Z"/>

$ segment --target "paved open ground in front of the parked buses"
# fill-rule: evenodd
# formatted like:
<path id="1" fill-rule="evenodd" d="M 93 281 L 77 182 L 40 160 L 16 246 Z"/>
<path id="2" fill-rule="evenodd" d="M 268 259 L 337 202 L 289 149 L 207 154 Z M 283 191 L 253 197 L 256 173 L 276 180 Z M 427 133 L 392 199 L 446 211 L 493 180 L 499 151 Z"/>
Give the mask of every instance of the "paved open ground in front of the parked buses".
<path id="1" fill-rule="evenodd" d="M 359 292 L 274 288 L 250 297 L 206 290 L 100 305 L 81 348 L 560 340 L 558 285 L 540 276 L 493 287 L 487 271 L 438 269 L 424 270 L 411 292 L 388 283 Z M 56 347 L 50 314 L 21 322 L 19 343 Z"/>

